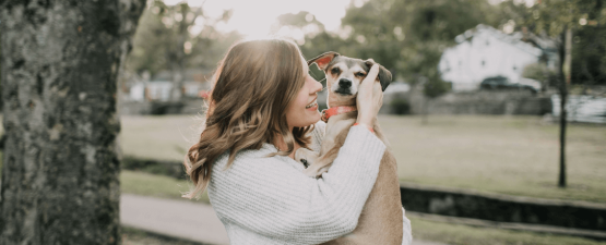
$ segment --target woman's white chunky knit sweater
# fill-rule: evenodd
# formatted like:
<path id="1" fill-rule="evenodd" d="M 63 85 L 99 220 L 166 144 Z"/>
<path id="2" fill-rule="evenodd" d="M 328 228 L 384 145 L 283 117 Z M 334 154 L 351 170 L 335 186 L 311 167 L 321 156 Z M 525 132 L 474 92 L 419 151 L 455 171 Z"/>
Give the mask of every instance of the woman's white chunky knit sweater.
<path id="1" fill-rule="evenodd" d="M 325 123 L 311 132 L 319 151 Z M 319 244 L 350 233 L 379 172 L 385 145 L 364 126 L 353 126 L 329 172 L 320 179 L 301 173 L 289 157 L 266 158 L 277 149 L 263 144 L 241 150 L 225 170 L 228 152 L 213 167 L 209 196 L 233 245 Z M 402 244 L 412 243 L 404 216 Z"/>

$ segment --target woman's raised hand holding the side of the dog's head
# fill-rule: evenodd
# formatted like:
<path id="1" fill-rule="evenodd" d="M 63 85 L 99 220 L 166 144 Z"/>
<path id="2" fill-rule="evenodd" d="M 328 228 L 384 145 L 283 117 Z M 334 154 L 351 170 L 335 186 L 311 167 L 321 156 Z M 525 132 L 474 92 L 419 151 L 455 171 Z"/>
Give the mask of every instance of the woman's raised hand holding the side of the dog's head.
<path id="1" fill-rule="evenodd" d="M 358 119 L 356 122 L 370 127 L 373 126 L 373 119 L 377 118 L 379 109 L 383 105 L 381 84 L 376 83 L 378 74 L 379 65 L 373 64 L 368 71 L 366 78 L 360 83 L 358 96 L 356 97 L 358 108 Z"/>

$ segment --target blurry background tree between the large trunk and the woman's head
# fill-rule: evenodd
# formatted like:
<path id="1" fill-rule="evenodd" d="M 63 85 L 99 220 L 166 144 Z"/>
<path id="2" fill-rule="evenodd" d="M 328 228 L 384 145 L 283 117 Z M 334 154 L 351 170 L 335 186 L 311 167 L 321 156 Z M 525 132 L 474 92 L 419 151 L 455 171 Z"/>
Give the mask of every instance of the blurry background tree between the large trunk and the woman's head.
<path id="1" fill-rule="evenodd" d="M 202 7 L 187 2 L 167 5 L 155 0 L 141 17 L 141 28 L 134 36 L 134 50 L 128 68 L 134 72 L 150 71 L 152 75 L 169 70 L 173 79 L 170 100 L 182 96 L 185 72 L 192 66 L 215 66 L 219 56 L 238 35 L 221 34 L 215 29 L 218 22 L 227 22 L 230 11 L 218 19 L 204 15 Z M 227 39 L 227 40 L 226 40 Z"/>

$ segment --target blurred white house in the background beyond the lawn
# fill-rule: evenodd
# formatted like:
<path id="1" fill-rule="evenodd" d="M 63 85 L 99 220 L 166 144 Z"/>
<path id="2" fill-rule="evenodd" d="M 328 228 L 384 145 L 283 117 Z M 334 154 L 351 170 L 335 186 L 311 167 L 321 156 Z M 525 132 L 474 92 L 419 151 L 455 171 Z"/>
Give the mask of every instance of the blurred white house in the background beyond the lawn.
<path id="1" fill-rule="evenodd" d="M 483 79 L 492 76 L 528 83 L 522 79 L 526 65 L 545 62 L 552 70 L 558 65 L 554 41 L 530 33 L 508 35 L 479 24 L 456 36 L 455 41 L 458 45 L 444 50 L 438 65 L 442 79 L 452 83 L 453 90 L 478 89 Z"/>

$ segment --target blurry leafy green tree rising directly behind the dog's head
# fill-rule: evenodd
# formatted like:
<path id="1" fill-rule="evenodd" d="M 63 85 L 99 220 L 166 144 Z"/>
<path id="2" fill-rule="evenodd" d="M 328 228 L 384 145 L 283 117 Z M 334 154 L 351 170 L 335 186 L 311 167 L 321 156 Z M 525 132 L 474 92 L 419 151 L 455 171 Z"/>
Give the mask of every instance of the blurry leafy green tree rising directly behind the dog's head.
<path id="1" fill-rule="evenodd" d="M 454 37 L 486 23 L 494 25 L 496 7 L 485 0 L 377 0 L 350 8 L 343 19 L 359 42 L 357 56 L 372 57 L 396 77 L 436 77 L 442 51 Z"/>

